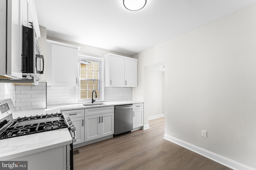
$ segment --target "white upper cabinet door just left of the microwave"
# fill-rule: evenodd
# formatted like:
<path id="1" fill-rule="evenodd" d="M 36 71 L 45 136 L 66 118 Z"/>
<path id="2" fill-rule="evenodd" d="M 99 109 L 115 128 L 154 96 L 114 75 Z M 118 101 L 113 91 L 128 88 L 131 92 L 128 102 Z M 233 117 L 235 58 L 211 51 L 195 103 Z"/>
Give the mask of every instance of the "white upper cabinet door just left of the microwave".
<path id="1" fill-rule="evenodd" d="M 7 74 L 22 78 L 22 21 L 19 0 L 7 1 Z"/>

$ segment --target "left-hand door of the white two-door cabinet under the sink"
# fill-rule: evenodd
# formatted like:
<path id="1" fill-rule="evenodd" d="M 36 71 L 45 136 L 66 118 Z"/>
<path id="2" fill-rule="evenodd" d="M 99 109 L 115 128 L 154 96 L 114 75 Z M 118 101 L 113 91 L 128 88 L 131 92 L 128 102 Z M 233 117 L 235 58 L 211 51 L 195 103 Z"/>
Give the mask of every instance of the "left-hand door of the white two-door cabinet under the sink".
<path id="1" fill-rule="evenodd" d="M 100 120 L 101 115 L 92 115 L 84 117 L 84 141 L 100 138 Z"/>

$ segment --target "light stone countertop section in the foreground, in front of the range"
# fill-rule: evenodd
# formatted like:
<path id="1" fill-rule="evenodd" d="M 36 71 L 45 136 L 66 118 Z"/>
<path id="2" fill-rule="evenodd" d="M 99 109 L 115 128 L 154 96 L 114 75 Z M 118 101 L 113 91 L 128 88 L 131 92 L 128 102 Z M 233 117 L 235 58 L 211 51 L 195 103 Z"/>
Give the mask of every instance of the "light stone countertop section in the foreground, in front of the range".
<path id="1" fill-rule="evenodd" d="M 0 160 L 11 160 L 72 143 L 68 128 L 0 140 Z"/>

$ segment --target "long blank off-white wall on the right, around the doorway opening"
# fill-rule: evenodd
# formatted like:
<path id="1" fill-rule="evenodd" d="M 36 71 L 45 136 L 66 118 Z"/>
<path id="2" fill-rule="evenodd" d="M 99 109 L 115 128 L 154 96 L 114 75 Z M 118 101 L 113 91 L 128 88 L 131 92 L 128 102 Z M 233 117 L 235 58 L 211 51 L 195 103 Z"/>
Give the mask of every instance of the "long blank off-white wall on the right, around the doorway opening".
<path id="1" fill-rule="evenodd" d="M 255 17 L 256 5 L 134 55 L 138 87 L 133 89 L 133 99 L 144 100 L 144 67 L 165 61 L 165 133 L 252 168 Z M 208 131 L 207 138 L 201 136 L 202 129 Z"/>

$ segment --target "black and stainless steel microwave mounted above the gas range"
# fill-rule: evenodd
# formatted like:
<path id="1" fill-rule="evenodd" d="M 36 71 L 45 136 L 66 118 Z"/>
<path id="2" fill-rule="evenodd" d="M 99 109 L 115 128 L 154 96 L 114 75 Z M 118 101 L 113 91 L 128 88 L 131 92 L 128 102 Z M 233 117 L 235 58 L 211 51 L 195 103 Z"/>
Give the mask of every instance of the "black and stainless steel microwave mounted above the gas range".
<path id="1" fill-rule="evenodd" d="M 44 56 L 40 49 L 36 32 L 33 28 L 22 27 L 22 76 L 41 78 L 44 73 Z"/>

